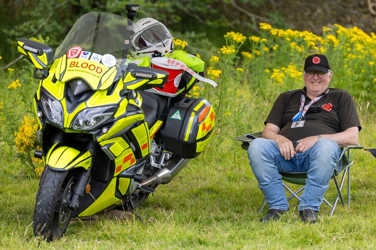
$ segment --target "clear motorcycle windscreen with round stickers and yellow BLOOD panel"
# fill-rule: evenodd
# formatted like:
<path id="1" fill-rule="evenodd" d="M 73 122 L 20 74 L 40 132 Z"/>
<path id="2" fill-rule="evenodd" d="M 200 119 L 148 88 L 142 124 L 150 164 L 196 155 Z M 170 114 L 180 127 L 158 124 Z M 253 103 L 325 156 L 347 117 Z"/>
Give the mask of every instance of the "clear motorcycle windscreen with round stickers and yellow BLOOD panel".
<path id="1" fill-rule="evenodd" d="M 89 12 L 81 16 L 56 49 L 54 60 L 63 61 L 56 78 L 67 81 L 85 73 L 102 78 L 107 72 L 106 79 L 118 81 L 127 67 L 126 62 L 133 60 L 129 40 L 135 29 L 132 21 L 111 13 Z M 104 79 L 96 80 L 97 88 L 103 85 Z M 94 85 L 92 88 L 96 89 Z"/>

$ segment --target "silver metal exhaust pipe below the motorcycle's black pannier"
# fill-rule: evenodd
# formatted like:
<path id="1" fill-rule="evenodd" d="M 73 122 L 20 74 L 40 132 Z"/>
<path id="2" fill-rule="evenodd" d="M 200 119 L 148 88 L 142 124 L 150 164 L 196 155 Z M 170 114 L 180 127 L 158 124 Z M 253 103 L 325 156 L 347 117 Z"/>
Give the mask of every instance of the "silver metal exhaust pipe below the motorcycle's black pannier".
<path id="1" fill-rule="evenodd" d="M 140 183 L 141 186 L 152 186 L 153 184 L 167 184 L 169 183 L 179 172 L 183 169 L 183 167 L 190 161 L 191 159 L 182 159 L 179 158 L 173 162 L 170 162 L 166 167 L 159 169 L 155 172 L 152 176 L 147 178 Z M 176 162 L 176 163 L 175 163 Z M 174 164 L 175 163 L 175 164 Z"/>

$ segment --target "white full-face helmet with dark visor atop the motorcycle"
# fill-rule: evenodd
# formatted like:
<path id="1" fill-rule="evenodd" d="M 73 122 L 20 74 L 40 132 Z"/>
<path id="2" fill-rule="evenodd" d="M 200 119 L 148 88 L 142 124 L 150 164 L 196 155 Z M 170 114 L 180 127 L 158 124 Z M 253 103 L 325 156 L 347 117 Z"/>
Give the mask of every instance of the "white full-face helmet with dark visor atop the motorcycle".
<path id="1" fill-rule="evenodd" d="M 153 53 L 168 54 L 174 48 L 170 31 L 153 18 L 139 19 L 133 24 L 135 34 L 130 39 L 130 51 L 135 58 L 151 57 Z"/>

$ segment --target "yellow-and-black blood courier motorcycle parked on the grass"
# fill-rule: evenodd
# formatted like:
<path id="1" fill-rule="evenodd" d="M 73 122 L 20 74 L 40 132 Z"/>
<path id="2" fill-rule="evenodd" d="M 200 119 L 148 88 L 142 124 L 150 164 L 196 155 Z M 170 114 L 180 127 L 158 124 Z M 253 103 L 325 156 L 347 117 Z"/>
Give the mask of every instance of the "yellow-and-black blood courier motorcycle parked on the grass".
<path id="1" fill-rule="evenodd" d="M 59 238 L 71 218 L 119 206 L 138 216 L 134 209 L 212 137 L 211 103 L 185 96 L 197 79 L 183 70 L 176 93 L 168 93 L 163 86 L 177 85 L 177 77 L 168 80 L 169 67 L 132 63 L 129 40 L 138 8 L 127 4 L 127 18 L 86 13 L 55 55 L 43 43 L 17 40 L 40 80 L 34 108 L 42 150 L 35 157 L 45 169 L 36 193 L 35 236 Z"/>

